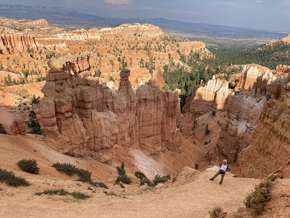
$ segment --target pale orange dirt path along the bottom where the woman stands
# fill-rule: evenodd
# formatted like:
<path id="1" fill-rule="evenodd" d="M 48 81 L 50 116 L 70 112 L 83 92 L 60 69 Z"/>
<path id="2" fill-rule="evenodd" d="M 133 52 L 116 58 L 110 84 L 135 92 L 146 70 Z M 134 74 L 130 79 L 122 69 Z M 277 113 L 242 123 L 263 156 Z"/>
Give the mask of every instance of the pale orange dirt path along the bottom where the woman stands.
<path id="1" fill-rule="evenodd" d="M 44 189 L 41 180 L 27 188 L 5 187 L 0 194 L 0 217 L 209 217 L 208 210 L 220 205 L 226 212 L 233 212 L 243 206 L 246 192 L 258 182 L 255 179 L 233 178 L 228 174 L 224 183 L 219 180 L 209 181 L 215 171 L 204 171 L 186 178 L 168 181 L 155 192 L 141 195 L 106 196 L 99 189 L 92 193 L 93 198 L 78 202 L 66 203 L 60 196 L 35 196 L 35 190 Z M 53 183 L 50 181 L 48 183 Z M 87 184 L 77 187 L 73 181 L 57 181 L 58 186 L 70 187 L 72 190 L 86 190 Z M 60 184 L 61 183 L 61 184 Z M 168 186 L 168 187 L 167 187 Z M 48 187 L 46 187 L 48 188 Z M 52 187 L 50 187 L 52 188 Z M 122 189 L 109 185 L 117 194 Z M 28 190 L 27 190 L 28 189 Z M 127 185 L 125 193 L 140 189 L 137 185 Z M 2 191 L 3 192 L 3 191 Z M 11 193 L 15 193 L 11 196 Z M 18 192 L 18 193 L 17 193 Z"/>

